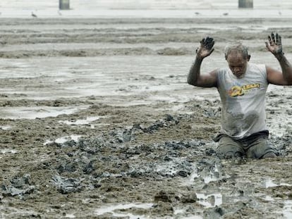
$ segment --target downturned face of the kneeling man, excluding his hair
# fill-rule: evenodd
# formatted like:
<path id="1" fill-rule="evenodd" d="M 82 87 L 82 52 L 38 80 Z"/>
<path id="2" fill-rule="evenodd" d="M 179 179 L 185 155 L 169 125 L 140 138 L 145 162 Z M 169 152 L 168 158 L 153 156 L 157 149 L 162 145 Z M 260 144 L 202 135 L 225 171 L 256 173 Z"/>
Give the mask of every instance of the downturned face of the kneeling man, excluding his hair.
<path id="1" fill-rule="evenodd" d="M 231 53 L 227 56 L 226 61 L 233 75 L 238 78 L 244 76 L 249 58 L 243 58 L 243 54 L 238 51 L 231 51 Z"/>

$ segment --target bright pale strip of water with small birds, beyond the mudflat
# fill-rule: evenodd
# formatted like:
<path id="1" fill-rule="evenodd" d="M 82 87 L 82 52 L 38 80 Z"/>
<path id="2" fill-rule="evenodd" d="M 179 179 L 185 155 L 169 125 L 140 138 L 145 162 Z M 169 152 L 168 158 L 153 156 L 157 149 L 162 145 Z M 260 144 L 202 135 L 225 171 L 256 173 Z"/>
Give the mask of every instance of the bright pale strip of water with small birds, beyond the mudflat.
<path id="1" fill-rule="evenodd" d="M 32 11 L 37 18 L 32 18 Z M 292 8 L 219 8 L 219 9 L 51 9 L 2 8 L 1 18 L 292 18 Z"/>

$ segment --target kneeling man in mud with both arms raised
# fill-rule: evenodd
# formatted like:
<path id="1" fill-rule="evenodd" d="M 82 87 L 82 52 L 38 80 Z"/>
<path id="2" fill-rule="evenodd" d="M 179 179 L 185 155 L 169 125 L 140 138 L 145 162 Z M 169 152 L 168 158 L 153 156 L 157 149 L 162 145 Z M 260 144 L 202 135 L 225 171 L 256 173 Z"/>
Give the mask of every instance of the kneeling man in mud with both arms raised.
<path id="1" fill-rule="evenodd" d="M 265 44 L 279 61 L 281 71 L 249 63 L 247 47 L 236 44 L 225 49 L 228 67 L 201 74 L 203 59 L 214 51 L 214 40 L 211 37 L 202 39 L 196 50 L 188 84 L 217 87 L 220 94 L 221 131 L 215 138 L 219 158 L 271 158 L 278 154 L 268 144 L 265 94 L 269 84 L 292 85 L 292 66 L 284 56 L 281 37 L 277 33 L 272 33 Z"/>

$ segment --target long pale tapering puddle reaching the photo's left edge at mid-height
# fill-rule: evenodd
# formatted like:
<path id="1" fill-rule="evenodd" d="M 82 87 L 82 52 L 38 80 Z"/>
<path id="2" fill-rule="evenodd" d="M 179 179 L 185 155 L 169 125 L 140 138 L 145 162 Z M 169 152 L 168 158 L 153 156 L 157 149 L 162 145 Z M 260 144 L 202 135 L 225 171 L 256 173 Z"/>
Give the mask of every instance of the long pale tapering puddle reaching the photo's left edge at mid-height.
<path id="1" fill-rule="evenodd" d="M 35 119 L 49 116 L 56 117 L 61 114 L 71 114 L 85 108 L 87 107 L 6 107 L 1 108 L 0 114 L 1 118 L 5 119 Z"/>

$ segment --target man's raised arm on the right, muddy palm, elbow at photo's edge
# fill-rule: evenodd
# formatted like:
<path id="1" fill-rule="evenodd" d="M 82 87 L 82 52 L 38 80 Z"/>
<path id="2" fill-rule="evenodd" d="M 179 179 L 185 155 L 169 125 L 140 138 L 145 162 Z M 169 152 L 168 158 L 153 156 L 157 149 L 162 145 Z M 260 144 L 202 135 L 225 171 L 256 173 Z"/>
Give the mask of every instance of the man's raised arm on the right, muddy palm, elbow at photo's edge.
<path id="1" fill-rule="evenodd" d="M 281 36 L 272 33 L 268 36 L 268 42 L 265 42 L 267 49 L 276 57 L 281 65 L 281 70 L 267 68 L 267 80 L 273 85 L 292 85 L 292 65 L 284 56 L 282 49 Z"/>

